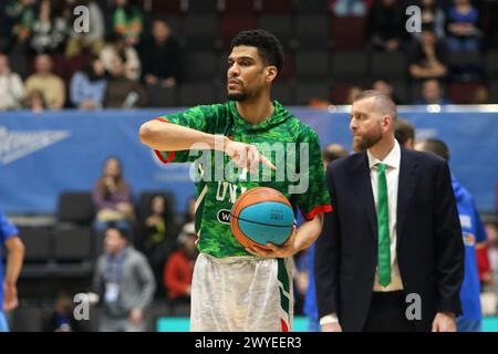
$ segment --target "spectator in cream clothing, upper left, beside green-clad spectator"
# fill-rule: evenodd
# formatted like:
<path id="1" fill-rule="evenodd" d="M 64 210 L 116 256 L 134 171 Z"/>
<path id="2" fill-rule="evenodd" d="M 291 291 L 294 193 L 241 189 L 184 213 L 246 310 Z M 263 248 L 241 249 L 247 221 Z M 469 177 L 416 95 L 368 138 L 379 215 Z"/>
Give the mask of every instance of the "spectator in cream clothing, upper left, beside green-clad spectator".
<path id="1" fill-rule="evenodd" d="M 89 24 L 90 32 L 76 33 L 71 32 L 71 38 L 68 40 L 65 48 L 65 56 L 72 58 L 81 54 L 84 51 L 90 51 L 91 54 L 97 55 L 104 46 L 105 35 L 105 20 L 102 10 L 94 0 L 76 0 L 70 7 L 68 18 L 71 19 L 71 23 L 74 23 L 74 8 L 84 6 L 89 8 Z"/>

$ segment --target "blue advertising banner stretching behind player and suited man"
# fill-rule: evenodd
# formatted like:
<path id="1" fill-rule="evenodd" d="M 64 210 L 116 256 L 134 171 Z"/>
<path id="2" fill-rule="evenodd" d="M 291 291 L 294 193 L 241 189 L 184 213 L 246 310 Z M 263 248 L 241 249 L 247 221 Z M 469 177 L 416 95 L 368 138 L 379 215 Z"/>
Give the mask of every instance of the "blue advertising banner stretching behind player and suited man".
<path id="1" fill-rule="evenodd" d="M 0 117 L 0 207 L 8 214 L 51 214 L 65 190 L 91 190 L 108 156 L 117 156 L 137 197 L 145 190 L 170 190 L 183 211 L 194 195 L 189 165 L 163 165 L 138 139 L 142 123 L 175 110 L 34 114 L 8 112 Z M 345 108 L 290 107 L 315 129 L 322 145 L 351 145 Z M 401 110 L 417 137 L 439 137 L 450 150 L 455 176 L 475 196 L 480 210 L 496 209 L 498 114 L 477 110 Z"/>

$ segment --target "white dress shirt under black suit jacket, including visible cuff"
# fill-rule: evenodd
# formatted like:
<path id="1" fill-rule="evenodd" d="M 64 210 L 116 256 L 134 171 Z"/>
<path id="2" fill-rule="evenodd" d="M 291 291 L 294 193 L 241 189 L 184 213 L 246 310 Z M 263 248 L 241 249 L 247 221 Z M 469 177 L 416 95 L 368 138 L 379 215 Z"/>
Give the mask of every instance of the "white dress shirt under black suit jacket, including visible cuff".
<path id="1" fill-rule="evenodd" d="M 377 167 L 378 163 L 386 165 L 385 178 L 387 179 L 387 204 L 388 204 L 388 218 L 390 218 L 390 238 L 391 238 L 391 283 L 387 287 L 382 287 L 378 283 L 378 267 L 375 269 L 375 279 L 373 284 L 373 291 L 386 292 L 403 290 L 403 282 L 400 275 L 400 266 L 397 263 L 396 254 L 396 210 L 397 210 L 397 186 L 400 181 L 400 165 L 401 165 L 401 148 L 400 144 L 394 140 L 394 147 L 387 154 L 387 156 L 380 160 L 372 155 L 370 150 L 366 150 L 369 157 L 370 179 L 372 183 L 372 192 L 375 201 L 375 209 L 377 208 Z M 377 236 L 375 236 L 377 239 Z M 320 324 L 338 323 L 338 315 L 335 313 L 325 315 L 320 319 Z"/>

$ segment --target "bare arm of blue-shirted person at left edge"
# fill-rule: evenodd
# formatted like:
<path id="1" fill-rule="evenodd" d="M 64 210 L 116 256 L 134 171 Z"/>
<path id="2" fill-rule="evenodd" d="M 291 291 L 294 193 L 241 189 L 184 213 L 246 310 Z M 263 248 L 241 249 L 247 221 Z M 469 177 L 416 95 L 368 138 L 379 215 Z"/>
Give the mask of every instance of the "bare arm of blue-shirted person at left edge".
<path id="1" fill-rule="evenodd" d="M 21 273 L 22 261 L 24 259 L 24 244 L 17 236 L 6 241 L 8 250 L 6 279 L 3 283 L 4 298 L 3 309 L 12 310 L 18 306 L 18 291 L 15 284 Z"/>

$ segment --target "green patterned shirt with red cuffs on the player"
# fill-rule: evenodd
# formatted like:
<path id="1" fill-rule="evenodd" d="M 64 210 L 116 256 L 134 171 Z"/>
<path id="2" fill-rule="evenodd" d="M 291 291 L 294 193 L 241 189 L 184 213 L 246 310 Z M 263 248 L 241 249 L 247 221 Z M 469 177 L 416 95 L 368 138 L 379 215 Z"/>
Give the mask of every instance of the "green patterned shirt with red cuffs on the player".
<path id="1" fill-rule="evenodd" d="M 217 258 L 248 256 L 230 230 L 230 210 L 247 189 L 270 187 L 281 191 L 307 220 L 331 211 L 318 135 L 274 101 L 274 112 L 251 125 L 238 113 L 235 102 L 196 106 L 159 117 L 200 132 L 252 144 L 277 170 L 260 164 L 259 173 L 237 168 L 222 152 L 193 146 L 190 150 L 156 152 L 164 163 L 193 162 L 196 179 L 196 232 L 200 252 Z"/>

